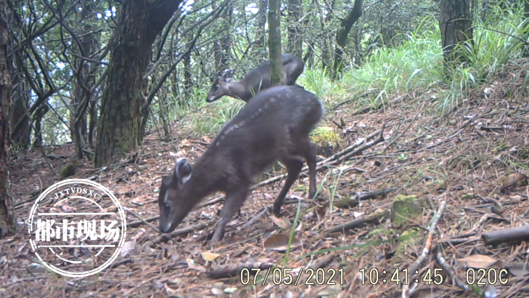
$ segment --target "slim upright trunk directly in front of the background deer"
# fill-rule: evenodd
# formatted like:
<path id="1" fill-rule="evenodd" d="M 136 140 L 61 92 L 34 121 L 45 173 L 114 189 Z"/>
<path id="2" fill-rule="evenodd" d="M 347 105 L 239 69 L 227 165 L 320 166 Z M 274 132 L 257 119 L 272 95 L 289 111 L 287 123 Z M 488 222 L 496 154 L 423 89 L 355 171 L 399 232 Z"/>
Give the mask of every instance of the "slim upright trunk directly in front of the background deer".
<path id="1" fill-rule="evenodd" d="M 281 0 L 269 0 L 268 10 L 268 51 L 270 52 L 270 86 L 285 84 L 283 61 L 281 59 L 281 23 L 279 7 Z"/>

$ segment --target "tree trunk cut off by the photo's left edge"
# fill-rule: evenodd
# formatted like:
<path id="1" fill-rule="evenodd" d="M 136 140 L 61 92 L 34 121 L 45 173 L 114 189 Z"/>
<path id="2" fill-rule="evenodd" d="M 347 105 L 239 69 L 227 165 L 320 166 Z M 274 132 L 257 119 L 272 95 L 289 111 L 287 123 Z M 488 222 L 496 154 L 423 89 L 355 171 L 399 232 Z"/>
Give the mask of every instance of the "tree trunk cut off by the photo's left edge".
<path id="1" fill-rule="evenodd" d="M 16 229 L 9 173 L 9 110 L 11 106 L 11 76 L 7 66 L 8 33 L 7 3 L 0 0 L 0 238 Z"/>

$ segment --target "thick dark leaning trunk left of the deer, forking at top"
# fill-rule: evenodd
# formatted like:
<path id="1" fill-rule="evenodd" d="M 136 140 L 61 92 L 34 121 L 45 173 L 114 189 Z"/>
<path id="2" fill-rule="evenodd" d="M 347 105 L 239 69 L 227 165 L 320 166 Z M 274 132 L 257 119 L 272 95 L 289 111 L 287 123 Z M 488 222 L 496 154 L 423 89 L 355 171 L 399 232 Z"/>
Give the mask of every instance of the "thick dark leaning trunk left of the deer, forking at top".
<path id="1" fill-rule="evenodd" d="M 97 124 L 95 167 L 120 161 L 142 138 L 142 76 L 151 47 L 181 0 L 124 0 L 114 32 L 108 77 Z"/>

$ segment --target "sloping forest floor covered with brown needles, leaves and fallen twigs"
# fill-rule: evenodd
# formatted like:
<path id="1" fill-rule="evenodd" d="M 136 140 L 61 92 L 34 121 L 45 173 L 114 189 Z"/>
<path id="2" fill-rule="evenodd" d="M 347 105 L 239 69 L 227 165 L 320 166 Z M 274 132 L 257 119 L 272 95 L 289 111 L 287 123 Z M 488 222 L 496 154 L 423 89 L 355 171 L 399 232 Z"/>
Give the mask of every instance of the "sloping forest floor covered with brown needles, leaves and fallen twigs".
<path id="1" fill-rule="evenodd" d="M 35 265 L 27 228 L 21 228 L 14 237 L 0 240 L 0 294 L 404 297 L 403 290 L 408 290 L 406 297 L 477 297 L 481 291 L 488 297 L 526 297 L 529 246 L 488 234 L 529 219 L 529 187 L 523 174 L 529 164 L 529 103 L 522 92 L 526 68 L 507 66 L 494 82 L 461 98 L 458 109 L 442 121 L 432 112 L 431 91 L 396 95 L 383 108 L 367 113 L 355 114 L 359 107 L 350 105 L 327 106 L 325 125 L 336 128 L 331 120 L 340 123 L 340 118 L 345 123 L 337 129 L 344 145 L 334 153 L 371 135 L 359 142 L 357 150 L 364 149 L 324 162 L 319 158 L 318 165 L 327 165 L 316 176 L 322 186 L 319 199 L 307 198 L 304 175 L 291 188 L 280 218 L 271 216 L 268 208 L 284 179 L 267 179 L 284 170 L 270 170 L 215 245 L 205 238 L 214 229 L 221 194 L 206 198 L 171 237 L 157 230 L 161 177 L 172 170 L 177 157 L 194 160 L 202 154 L 214 136 L 177 137 L 184 123 L 175 123 L 175 140 L 169 143 L 150 133 L 133 161 L 103 169 L 87 162 L 74 176 L 108 187 L 125 207 L 126 252 L 97 275 L 54 275 Z M 382 134 L 376 133 L 382 128 Z M 23 157 L 21 153 L 12 161 L 21 224 L 42 188 L 58 181 L 74 147 L 55 146 L 49 155 L 56 173 L 39 151 Z M 500 238 L 508 235 L 499 233 Z M 272 269 L 263 285 L 272 266 L 279 269 Z M 252 268 L 261 269 L 256 279 L 248 279 Z M 408 278 L 405 268 L 411 273 Z M 485 270 L 479 268 L 486 269 L 488 277 L 481 279 Z M 280 274 L 291 274 L 294 282 L 289 284 L 289 277 L 281 282 Z"/>

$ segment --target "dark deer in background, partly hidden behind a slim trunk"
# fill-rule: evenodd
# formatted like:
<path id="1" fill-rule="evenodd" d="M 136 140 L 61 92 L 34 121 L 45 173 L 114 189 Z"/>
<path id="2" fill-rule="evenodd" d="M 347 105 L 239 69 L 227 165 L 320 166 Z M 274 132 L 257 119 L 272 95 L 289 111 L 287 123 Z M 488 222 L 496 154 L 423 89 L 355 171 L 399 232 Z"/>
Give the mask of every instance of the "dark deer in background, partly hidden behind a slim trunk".
<path id="1" fill-rule="evenodd" d="M 302 86 L 296 84 L 297 78 L 305 69 L 303 59 L 292 54 L 283 54 L 281 58 L 285 85 L 296 85 L 303 89 Z M 232 69 L 226 69 L 217 76 L 209 89 L 206 102 L 214 102 L 224 95 L 248 102 L 253 95 L 270 87 L 270 60 L 250 70 L 239 82 L 232 82 L 232 76 Z"/>

